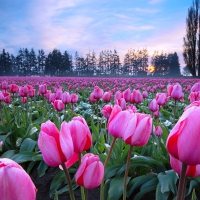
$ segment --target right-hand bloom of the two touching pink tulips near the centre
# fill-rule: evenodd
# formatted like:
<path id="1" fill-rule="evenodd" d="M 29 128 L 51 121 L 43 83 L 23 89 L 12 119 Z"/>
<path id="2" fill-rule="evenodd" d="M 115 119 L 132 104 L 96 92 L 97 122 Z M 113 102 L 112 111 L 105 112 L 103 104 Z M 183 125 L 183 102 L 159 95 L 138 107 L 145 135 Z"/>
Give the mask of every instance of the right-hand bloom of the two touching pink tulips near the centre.
<path id="1" fill-rule="evenodd" d="M 152 131 L 151 116 L 135 113 L 124 123 L 126 124 L 122 134 L 124 142 L 132 146 L 146 145 Z"/>

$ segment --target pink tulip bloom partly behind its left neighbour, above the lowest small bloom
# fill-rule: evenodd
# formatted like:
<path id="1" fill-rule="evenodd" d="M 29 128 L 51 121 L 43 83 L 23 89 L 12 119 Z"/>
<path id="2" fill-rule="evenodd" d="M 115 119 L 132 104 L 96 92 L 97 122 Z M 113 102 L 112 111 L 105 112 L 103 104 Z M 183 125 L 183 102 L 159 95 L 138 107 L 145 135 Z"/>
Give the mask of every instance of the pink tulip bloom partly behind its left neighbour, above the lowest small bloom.
<path id="1" fill-rule="evenodd" d="M 92 145 L 92 135 L 85 119 L 74 117 L 68 125 L 74 144 L 74 152 L 81 153 L 88 150 Z"/>

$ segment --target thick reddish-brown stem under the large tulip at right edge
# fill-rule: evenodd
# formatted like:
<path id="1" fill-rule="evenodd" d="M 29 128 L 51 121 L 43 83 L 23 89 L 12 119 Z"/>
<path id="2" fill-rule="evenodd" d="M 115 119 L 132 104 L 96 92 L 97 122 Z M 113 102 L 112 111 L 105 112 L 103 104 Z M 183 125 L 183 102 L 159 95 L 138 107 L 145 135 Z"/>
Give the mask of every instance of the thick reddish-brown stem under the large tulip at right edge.
<path id="1" fill-rule="evenodd" d="M 183 200 L 185 196 L 185 187 L 186 187 L 186 170 L 187 170 L 187 164 L 182 162 L 182 169 L 181 169 L 181 177 L 178 184 L 178 195 L 177 200 Z"/>

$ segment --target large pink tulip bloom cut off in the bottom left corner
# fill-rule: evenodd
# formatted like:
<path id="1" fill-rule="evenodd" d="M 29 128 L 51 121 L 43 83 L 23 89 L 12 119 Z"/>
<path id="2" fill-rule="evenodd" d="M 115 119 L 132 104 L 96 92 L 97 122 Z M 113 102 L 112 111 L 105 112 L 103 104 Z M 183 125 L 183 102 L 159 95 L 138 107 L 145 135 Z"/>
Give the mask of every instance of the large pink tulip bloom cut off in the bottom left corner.
<path id="1" fill-rule="evenodd" d="M 0 158 L 1 200 L 35 200 L 36 188 L 26 171 L 8 158 Z"/>

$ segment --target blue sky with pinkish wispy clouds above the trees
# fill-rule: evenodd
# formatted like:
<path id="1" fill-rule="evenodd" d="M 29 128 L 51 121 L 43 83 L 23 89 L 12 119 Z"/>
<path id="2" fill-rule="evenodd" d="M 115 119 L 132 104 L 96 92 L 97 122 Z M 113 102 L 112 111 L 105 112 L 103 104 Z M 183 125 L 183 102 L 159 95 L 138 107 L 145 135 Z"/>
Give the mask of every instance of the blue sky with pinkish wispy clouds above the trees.
<path id="1" fill-rule="evenodd" d="M 192 0 L 0 0 L 0 50 L 75 51 L 130 49 L 177 52 L 181 66 L 186 17 Z"/>

